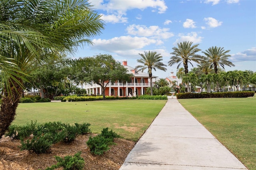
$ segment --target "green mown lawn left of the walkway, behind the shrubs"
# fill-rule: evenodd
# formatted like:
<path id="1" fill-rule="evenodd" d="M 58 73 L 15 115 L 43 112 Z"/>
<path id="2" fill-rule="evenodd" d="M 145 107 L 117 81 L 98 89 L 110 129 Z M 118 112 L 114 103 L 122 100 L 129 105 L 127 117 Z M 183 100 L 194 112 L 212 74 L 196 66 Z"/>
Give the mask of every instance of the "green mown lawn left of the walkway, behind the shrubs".
<path id="1" fill-rule="evenodd" d="M 26 125 L 31 120 L 90 123 L 92 133 L 108 127 L 124 139 L 138 141 L 165 104 L 166 100 L 22 103 L 12 125 Z"/>

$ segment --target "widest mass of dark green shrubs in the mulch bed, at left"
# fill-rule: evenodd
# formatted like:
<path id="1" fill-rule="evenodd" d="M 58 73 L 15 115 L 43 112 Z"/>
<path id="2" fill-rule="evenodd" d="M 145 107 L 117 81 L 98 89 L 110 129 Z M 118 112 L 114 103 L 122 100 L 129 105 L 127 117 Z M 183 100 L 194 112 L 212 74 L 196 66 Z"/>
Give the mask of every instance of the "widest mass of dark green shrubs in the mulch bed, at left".
<path id="1" fill-rule="evenodd" d="M 31 121 L 30 124 L 25 126 L 11 125 L 5 136 L 20 139 L 22 141 L 22 150 L 33 150 L 40 154 L 45 153 L 54 143 L 60 141 L 70 143 L 74 141 L 77 135 L 90 133 L 89 126 L 89 123 L 70 125 L 61 122 L 49 122 L 38 124 Z M 30 135 L 33 135 L 32 139 L 24 140 Z"/>

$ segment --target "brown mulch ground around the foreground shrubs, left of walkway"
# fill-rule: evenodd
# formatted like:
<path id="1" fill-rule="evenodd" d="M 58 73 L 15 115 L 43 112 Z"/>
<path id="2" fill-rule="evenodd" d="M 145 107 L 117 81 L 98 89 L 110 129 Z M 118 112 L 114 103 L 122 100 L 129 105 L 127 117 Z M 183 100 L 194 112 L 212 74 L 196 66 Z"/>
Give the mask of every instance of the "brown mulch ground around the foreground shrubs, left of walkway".
<path id="1" fill-rule="evenodd" d="M 57 143 L 52 145 L 50 153 L 35 154 L 28 150 L 20 150 L 20 141 L 11 140 L 9 137 L 2 137 L 0 140 L 0 170 L 38 170 L 56 164 L 54 156 L 73 156 L 81 151 L 85 161 L 84 170 L 118 170 L 135 142 L 125 139 L 114 139 L 116 145 L 110 146 L 110 150 L 103 155 L 95 156 L 90 153 L 86 145 L 90 136 L 95 134 L 80 135 L 71 144 Z M 57 170 L 62 170 L 58 168 Z"/>

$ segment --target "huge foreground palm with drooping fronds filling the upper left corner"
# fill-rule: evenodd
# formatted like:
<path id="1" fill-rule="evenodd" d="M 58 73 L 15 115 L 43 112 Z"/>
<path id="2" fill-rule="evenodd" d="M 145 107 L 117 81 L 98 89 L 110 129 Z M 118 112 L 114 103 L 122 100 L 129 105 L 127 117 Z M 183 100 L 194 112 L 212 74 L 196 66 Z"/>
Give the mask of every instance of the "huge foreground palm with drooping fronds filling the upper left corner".
<path id="1" fill-rule="evenodd" d="M 0 68 L 0 137 L 14 120 L 28 68 L 92 44 L 86 37 L 104 29 L 100 15 L 90 7 L 87 0 L 0 1 L 0 65 L 7 64 Z"/>

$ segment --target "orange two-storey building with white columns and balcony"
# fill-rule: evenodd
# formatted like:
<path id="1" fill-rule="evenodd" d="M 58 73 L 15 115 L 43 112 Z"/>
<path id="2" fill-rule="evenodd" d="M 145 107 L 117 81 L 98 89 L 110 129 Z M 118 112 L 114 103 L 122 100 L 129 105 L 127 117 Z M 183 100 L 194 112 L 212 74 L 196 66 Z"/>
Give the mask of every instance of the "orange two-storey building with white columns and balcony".
<path id="1" fill-rule="evenodd" d="M 127 61 L 123 61 L 123 66 L 128 70 L 129 74 L 133 74 L 130 77 L 130 81 L 126 83 L 122 82 L 110 82 L 106 86 L 105 95 L 106 96 L 140 96 L 146 94 L 146 89 L 150 86 L 148 74 L 140 72 L 135 68 L 127 65 Z M 156 78 L 156 76 L 152 76 Z M 102 95 L 102 88 L 98 84 L 86 84 L 85 89 L 87 94 Z"/>

